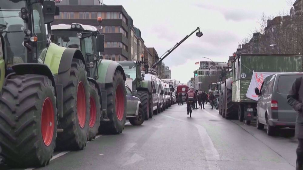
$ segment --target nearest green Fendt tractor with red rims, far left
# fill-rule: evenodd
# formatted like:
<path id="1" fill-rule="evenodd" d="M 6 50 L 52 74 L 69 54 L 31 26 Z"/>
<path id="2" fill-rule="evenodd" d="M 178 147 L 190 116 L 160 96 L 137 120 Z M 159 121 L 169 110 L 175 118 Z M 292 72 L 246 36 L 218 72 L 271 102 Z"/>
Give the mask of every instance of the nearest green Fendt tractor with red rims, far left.
<path id="1" fill-rule="evenodd" d="M 52 43 L 50 23 L 59 14 L 55 1 L 2 0 L 0 8 L 1 155 L 9 166 L 45 166 L 55 147 L 81 150 L 86 145 L 90 68 L 79 49 Z M 107 94 L 112 98 L 108 105 L 125 97 L 123 89 Z"/>

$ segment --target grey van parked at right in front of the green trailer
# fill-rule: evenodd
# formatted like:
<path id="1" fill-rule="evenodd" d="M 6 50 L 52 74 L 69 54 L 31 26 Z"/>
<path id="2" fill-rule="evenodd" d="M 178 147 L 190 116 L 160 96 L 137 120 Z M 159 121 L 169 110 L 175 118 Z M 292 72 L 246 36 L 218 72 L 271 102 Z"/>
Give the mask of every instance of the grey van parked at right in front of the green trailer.
<path id="1" fill-rule="evenodd" d="M 278 73 L 266 77 L 261 90 L 255 89 L 258 97 L 257 128 L 274 135 L 278 128 L 295 128 L 297 112 L 287 103 L 288 91 L 295 79 L 303 73 Z"/>

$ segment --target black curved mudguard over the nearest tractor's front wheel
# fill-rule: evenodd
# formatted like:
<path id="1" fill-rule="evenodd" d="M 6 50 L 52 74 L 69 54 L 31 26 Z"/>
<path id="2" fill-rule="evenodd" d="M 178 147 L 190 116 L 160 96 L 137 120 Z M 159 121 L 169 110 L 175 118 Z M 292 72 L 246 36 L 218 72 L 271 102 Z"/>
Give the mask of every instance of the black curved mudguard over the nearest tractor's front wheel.
<path id="1" fill-rule="evenodd" d="M 49 69 L 48 65 L 40 64 L 40 63 L 23 63 L 23 64 L 15 64 L 12 66 L 14 70 L 14 74 L 10 74 L 7 76 L 9 78 L 12 75 L 25 75 L 25 74 L 37 74 L 37 75 L 45 75 L 51 81 L 52 85 L 55 88 L 55 96 L 57 98 L 57 108 L 58 115 L 63 116 L 63 87 L 62 84 L 56 84 L 54 75 Z"/>

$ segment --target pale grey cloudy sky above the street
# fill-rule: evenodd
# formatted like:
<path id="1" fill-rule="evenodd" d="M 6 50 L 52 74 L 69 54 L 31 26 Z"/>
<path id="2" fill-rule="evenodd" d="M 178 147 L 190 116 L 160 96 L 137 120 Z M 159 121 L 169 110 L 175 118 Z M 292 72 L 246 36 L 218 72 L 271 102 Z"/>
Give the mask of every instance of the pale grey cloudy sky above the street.
<path id="1" fill-rule="evenodd" d="M 107 5 L 123 5 L 134 25 L 142 32 L 147 47 L 161 56 L 198 26 L 201 38 L 192 35 L 164 59 L 171 77 L 186 83 L 198 68 L 195 62 L 227 62 L 241 39 L 258 28 L 265 15 L 289 12 L 294 0 L 103 0 Z"/>

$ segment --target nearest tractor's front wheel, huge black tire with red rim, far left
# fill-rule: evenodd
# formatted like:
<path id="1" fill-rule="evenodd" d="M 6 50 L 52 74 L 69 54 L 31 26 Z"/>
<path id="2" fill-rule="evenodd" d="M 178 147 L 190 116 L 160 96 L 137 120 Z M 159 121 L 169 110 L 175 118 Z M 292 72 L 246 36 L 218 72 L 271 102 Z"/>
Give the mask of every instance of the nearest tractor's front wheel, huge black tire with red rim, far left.
<path id="1" fill-rule="evenodd" d="M 0 95 L 1 155 L 12 167 L 48 165 L 57 131 L 55 88 L 44 75 L 6 80 Z"/>

